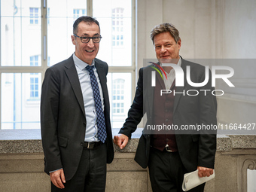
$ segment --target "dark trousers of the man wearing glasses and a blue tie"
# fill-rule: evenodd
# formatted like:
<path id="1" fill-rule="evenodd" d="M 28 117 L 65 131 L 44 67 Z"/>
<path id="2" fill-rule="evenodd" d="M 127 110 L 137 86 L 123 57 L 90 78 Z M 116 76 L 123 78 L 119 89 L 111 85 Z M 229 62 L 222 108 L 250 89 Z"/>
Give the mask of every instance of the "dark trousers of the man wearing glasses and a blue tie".
<path id="1" fill-rule="evenodd" d="M 107 145 L 96 148 L 84 148 L 78 170 L 74 177 L 66 181 L 64 189 L 59 189 L 53 183 L 52 192 L 102 192 L 105 191 Z M 64 169 L 65 174 L 65 169 Z"/>

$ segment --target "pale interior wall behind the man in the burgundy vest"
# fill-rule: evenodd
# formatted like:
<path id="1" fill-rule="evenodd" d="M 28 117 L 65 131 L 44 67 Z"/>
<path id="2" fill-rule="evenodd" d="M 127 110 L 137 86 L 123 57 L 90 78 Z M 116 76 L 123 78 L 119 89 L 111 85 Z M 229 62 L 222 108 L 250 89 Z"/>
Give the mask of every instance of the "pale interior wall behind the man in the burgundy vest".
<path id="1" fill-rule="evenodd" d="M 184 59 L 256 59 L 256 2 L 254 0 L 137 0 L 137 63 L 155 58 L 151 29 L 172 23 L 180 32 Z M 246 61 L 244 61 L 246 62 Z M 218 97 L 218 120 L 255 123 L 256 65 L 232 66 L 236 88 Z M 142 123 L 139 125 L 142 127 Z"/>

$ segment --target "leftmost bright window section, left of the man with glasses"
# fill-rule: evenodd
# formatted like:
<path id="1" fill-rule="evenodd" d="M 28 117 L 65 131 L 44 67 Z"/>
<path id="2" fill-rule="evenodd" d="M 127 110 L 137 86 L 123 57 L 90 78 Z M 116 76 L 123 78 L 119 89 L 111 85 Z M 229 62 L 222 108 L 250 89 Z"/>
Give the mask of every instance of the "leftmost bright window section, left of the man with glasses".
<path id="1" fill-rule="evenodd" d="M 0 129 L 39 129 L 44 74 L 41 1 L 0 3 Z"/>

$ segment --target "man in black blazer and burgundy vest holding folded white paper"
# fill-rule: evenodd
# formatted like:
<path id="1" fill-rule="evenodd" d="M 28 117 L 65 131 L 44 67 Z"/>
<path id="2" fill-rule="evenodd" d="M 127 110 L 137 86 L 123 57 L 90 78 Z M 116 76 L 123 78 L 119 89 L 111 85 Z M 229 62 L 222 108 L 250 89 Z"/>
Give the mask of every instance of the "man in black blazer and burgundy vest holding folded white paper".
<path id="1" fill-rule="evenodd" d="M 211 75 L 208 83 L 201 87 L 192 87 L 188 84 L 187 66 L 190 66 L 190 80 L 194 83 L 205 80 L 206 70 L 205 67 L 188 62 L 179 56 L 181 38 L 175 26 L 170 23 L 155 26 L 151 31 L 151 39 L 159 62 L 139 70 L 133 105 L 120 129 L 120 134 L 114 136 L 114 143 L 124 148 L 146 113 L 147 123 L 139 139 L 135 160 L 143 168 L 148 166 L 154 192 L 182 191 L 184 173 L 198 169 L 200 177 L 213 174 L 216 131 L 212 129 L 197 132 L 181 129 L 191 125 L 213 127 L 217 124 L 217 102 L 212 95 L 214 87 Z M 175 85 L 178 76 L 175 77 L 175 71 L 171 66 L 163 66 L 165 62 L 181 66 L 184 72 L 183 86 Z M 163 66 L 163 79 L 156 73 L 155 86 L 152 86 L 151 73 L 157 66 L 159 70 Z M 168 94 L 161 94 L 161 90 L 168 90 Z M 194 91 L 192 93 L 188 90 Z M 156 129 L 163 129 L 164 126 L 175 128 Z M 203 191 L 203 188 L 204 184 L 201 184 L 190 191 Z"/>

